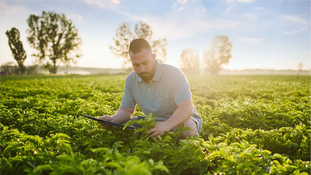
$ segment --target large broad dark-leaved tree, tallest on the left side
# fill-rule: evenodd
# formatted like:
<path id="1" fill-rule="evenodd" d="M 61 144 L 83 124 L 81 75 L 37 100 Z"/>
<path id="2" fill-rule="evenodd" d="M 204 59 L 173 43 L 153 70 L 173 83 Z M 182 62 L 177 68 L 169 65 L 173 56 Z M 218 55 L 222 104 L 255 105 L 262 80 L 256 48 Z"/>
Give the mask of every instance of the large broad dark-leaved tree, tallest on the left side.
<path id="1" fill-rule="evenodd" d="M 41 16 L 30 15 L 27 23 L 27 39 L 37 50 L 33 56 L 50 73 L 56 73 L 60 63 L 70 65 L 81 57 L 78 53 L 81 45 L 78 30 L 64 14 L 43 11 Z"/>

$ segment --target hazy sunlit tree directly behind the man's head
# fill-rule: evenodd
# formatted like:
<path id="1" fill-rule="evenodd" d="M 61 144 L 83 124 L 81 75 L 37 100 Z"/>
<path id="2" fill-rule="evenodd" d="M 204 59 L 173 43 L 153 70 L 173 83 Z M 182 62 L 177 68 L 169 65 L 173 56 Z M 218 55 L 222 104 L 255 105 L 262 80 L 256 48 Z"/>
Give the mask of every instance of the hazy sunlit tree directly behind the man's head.
<path id="1" fill-rule="evenodd" d="M 112 39 L 113 45 L 110 45 L 109 48 L 118 58 L 124 59 L 123 68 L 131 69 L 132 65 L 128 54 L 130 41 L 135 38 L 145 38 L 151 45 L 153 52 L 157 54 L 157 59 L 160 62 L 165 62 L 167 56 L 167 40 L 152 40 L 152 34 L 151 27 L 145 22 L 140 21 L 139 24 L 135 25 L 134 34 L 130 30 L 129 23 L 123 22 Z"/>

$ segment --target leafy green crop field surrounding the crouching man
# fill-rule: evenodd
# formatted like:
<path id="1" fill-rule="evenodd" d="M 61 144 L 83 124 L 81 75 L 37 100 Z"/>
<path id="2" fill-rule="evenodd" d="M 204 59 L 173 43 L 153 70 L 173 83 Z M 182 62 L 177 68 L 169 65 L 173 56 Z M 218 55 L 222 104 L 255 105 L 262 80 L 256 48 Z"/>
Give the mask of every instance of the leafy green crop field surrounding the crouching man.
<path id="1" fill-rule="evenodd" d="M 203 126 L 179 141 L 82 117 L 113 115 L 125 78 L 1 77 L 1 174 L 310 174 L 310 76 L 189 75 Z"/>

